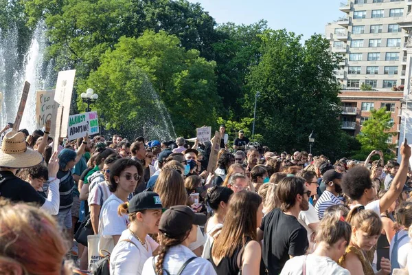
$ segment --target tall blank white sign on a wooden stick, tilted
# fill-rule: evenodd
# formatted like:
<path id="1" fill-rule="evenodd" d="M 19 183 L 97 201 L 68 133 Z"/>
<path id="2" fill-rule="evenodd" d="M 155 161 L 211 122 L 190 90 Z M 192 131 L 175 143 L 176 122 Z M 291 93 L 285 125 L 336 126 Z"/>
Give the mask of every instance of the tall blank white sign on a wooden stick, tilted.
<path id="1" fill-rule="evenodd" d="M 58 149 L 58 140 L 60 137 L 65 137 L 67 134 L 67 126 L 69 124 L 69 112 L 71 94 L 73 92 L 74 76 L 76 69 L 70 71 L 61 71 L 57 76 L 56 92 L 54 101 L 58 104 L 56 115 L 56 132 L 53 135 L 53 150 Z"/>

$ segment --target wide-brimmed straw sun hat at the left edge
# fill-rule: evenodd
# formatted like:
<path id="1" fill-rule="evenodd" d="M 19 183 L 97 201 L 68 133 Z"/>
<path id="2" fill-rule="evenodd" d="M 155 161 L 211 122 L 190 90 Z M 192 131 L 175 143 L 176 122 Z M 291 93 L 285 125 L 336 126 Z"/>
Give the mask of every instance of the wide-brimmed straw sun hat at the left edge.
<path id="1" fill-rule="evenodd" d="M 8 168 L 27 168 L 43 162 L 43 156 L 27 148 L 24 133 L 10 131 L 3 137 L 0 151 L 0 166 Z"/>

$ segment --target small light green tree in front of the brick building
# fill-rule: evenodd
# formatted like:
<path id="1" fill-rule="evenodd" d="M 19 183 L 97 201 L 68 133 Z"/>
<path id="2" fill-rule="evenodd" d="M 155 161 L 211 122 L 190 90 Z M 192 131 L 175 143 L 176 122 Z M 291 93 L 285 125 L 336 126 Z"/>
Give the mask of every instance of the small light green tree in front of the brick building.
<path id="1" fill-rule="evenodd" d="M 389 144 L 389 137 L 396 135 L 391 132 L 393 122 L 391 112 L 385 108 L 371 110 L 369 120 L 363 122 L 362 131 L 356 136 L 361 143 L 361 150 L 354 155 L 354 159 L 364 160 L 371 151 L 379 150 L 385 154 L 385 159 L 395 157 L 393 150 L 396 144 Z"/>

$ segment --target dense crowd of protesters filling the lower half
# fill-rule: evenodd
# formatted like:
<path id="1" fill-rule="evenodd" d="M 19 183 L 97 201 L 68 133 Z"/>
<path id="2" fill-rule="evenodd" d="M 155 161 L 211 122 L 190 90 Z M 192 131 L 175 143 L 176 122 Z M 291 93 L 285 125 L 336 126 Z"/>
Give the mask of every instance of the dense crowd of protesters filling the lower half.
<path id="1" fill-rule="evenodd" d="M 0 274 L 412 272 L 406 141 L 400 163 L 332 162 L 242 130 L 229 148 L 221 125 L 208 171 L 213 140 L 96 135 L 52 153 L 45 130 L 2 131 Z"/>

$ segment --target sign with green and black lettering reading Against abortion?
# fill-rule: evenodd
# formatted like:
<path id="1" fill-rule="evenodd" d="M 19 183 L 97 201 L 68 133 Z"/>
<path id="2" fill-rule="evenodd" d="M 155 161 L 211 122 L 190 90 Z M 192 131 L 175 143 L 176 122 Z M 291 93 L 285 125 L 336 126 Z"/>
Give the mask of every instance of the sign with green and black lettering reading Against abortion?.
<path id="1" fill-rule="evenodd" d="M 86 133 L 89 133 L 89 135 L 99 133 L 98 112 L 91 111 L 69 116 L 68 139 L 76 140 L 79 137 L 85 137 Z"/>

